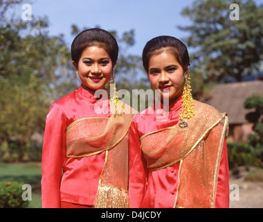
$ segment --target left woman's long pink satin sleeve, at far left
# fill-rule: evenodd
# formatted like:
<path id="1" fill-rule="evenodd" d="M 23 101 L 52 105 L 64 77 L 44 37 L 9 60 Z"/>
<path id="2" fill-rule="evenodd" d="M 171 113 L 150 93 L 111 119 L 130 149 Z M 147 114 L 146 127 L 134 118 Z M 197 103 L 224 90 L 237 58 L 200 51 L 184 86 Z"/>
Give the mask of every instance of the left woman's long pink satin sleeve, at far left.
<path id="1" fill-rule="evenodd" d="M 66 119 L 56 103 L 46 117 L 42 151 L 42 207 L 60 207 L 60 180 L 66 151 Z"/>

